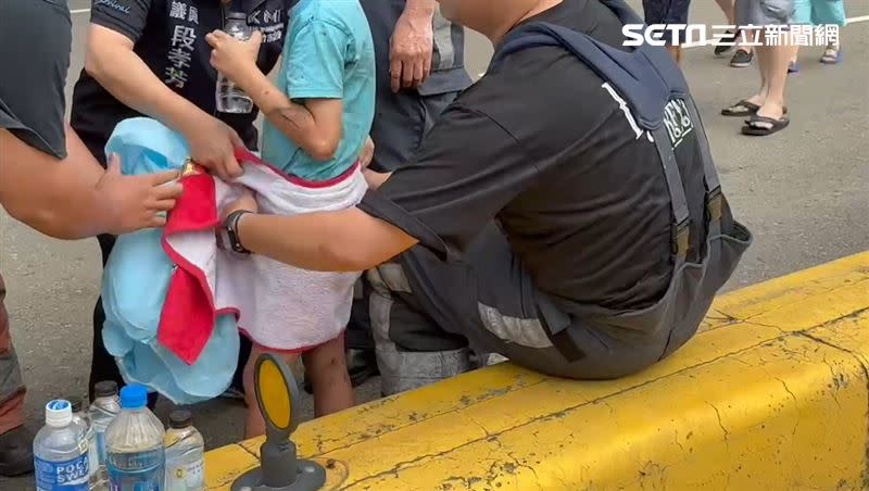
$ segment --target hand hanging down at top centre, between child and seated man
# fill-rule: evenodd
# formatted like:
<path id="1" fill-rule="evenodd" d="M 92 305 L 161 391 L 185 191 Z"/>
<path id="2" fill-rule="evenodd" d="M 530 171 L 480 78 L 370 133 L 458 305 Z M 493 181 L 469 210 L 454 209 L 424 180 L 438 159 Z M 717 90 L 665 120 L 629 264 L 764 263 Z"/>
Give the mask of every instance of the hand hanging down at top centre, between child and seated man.
<path id="1" fill-rule="evenodd" d="M 423 85 L 431 72 L 434 32 L 430 15 L 403 13 L 389 46 L 389 77 L 392 91 Z"/>

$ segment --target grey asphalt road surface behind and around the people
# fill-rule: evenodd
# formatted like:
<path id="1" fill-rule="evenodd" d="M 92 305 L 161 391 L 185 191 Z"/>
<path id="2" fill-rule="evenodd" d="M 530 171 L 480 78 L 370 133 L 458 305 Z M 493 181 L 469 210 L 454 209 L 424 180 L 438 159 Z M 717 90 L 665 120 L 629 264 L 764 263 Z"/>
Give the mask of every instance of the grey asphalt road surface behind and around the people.
<path id="1" fill-rule="evenodd" d="M 632 0 L 639 4 L 639 0 Z M 87 0 L 71 0 L 74 47 L 67 98 L 83 66 Z M 849 17 L 869 14 L 869 1 L 848 0 Z M 692 22 L 721 24 L 709 0 L 695 1 Z M 768 138 L 740 135 L 739 118 L 721 108 L 753 93 L 755 68 L 736 70 L 711 48 L 687 52 L 683 67 L 704 116 L 725 190 L 755 244 L 728 288 L 738 288 L 869 248 L 869 23 L 842 33 L 844 62 L 817 63 L 820 48 L 801 55 L 789 79 L 791 126 Z M 26 48 L 25 48 L 26 49 Z M 471 35 L 468 71 L 486 71 L 490 43 Z M 23 55 L 26 55 L 23 53 Z M 1 76 L 1 75 L 0 75 Z M 28 385 L 27 424 L 41 426 L 49 399 L 84 393 L 88 379 L 91 312 L 101 275 L 96 240 L 61 242 L 27 229 L 0 212 L 0 268 L 9 288 L 12 335 Z M 376 380 L 357 391 L 361 402 L 379 394 Z M 166 418 L 168 404 L 159 405 Z M 238 440 L 244 407 L 213 401 L 193 407 L 209 448 Z M 310 399 L 300 410 L 311 417 Z M 33 478 L 0 478 L 0 489 L 32 489 Z"/>

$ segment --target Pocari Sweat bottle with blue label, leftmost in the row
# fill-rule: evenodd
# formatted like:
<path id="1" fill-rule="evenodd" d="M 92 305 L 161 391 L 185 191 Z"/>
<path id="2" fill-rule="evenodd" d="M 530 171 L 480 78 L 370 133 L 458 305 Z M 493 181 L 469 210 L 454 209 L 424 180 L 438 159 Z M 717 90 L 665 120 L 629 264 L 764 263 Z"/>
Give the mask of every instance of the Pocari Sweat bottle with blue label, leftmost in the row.
<path id="1" fill-rule="evenodd" d="M 88 491 L 87 428 L 70 401 L 46 404 L 46 426 L 34 439 L 37 491 Z"/>

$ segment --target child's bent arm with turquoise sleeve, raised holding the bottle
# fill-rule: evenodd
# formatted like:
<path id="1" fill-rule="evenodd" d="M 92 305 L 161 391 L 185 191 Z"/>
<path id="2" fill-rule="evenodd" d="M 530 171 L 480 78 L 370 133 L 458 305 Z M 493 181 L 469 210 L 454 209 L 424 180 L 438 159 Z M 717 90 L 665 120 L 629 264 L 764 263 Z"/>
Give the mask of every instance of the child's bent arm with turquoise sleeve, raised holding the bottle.
<path id="1" fill-rule="evenodd" d="M 320 28 L 328 28 L 328 26 Z M 285 60 L 287 70 L 281 74 L 293 98 L 288 97 L 260 72 L 255 58 L 259 51 L 252 46 L 256 39 L 241 42 L 223 32 L 214 32 L 206 39 L 214 48 L 211 64 L 244 90 L 263 114 L 302 150 L 316 160 L 329 160 L 341 141 L 345 41 L 336 39 L 340 33 L 320 36 L 316 26 L 310 33 L 300 33 Z M 342 45 L 343 42 L 343 45 Z M 293 55 L 306 50 L 306 55 Z M 295 61 L 295 63 L 293 63 Z"/>

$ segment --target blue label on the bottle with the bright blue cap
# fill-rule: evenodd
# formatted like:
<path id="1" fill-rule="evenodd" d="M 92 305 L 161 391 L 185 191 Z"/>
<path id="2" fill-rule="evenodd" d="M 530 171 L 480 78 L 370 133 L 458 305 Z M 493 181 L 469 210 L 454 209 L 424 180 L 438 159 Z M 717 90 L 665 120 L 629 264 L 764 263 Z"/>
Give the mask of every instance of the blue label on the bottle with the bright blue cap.
<path id="1" fill-rule="evenodd" d="M 163 448 L 109 454 L 106 470 L 112 491 L 161 491 L 165 479 Z"/>

